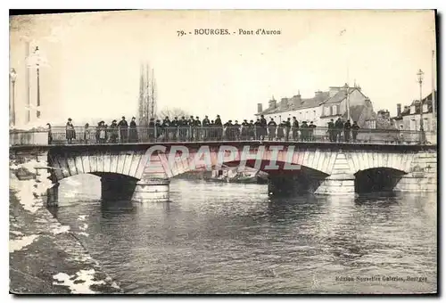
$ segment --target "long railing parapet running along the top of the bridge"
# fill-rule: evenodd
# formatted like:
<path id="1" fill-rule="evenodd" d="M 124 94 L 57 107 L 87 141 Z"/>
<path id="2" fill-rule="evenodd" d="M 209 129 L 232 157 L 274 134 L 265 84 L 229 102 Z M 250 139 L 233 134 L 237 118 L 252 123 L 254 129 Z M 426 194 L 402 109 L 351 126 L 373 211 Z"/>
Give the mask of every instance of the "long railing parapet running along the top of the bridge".
<path id="1" fill-rule="evenodd" d="M 244 127 L 136 127 L 92 129 L 65 127 L 37 130 L 11 130 L 10 146 L 192 143 L 210 141 L 326 142 L 373 144 L 436 144 L 433 132 L 396 129 L 359 129 L 357 132 L 326 127 L 296 129 L 245 129 Z"/>

